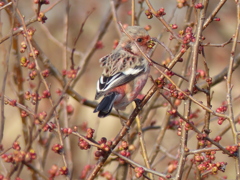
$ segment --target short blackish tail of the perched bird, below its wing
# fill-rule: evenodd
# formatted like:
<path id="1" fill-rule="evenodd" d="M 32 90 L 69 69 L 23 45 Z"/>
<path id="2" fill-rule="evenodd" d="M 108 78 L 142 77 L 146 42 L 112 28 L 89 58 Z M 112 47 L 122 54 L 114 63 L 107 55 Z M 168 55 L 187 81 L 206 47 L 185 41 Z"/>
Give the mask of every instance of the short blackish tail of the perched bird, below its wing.
<path id="1" fill-rule="evenodd" d="M 98 104 L 98 106 L 94 109 L 94 113 L 98 113 L 98 117 L 103 118 L 106 117 L 112 110 L 113 103 L 117 97 L 116 92 L 111 92 L 107 94 L 102 101 Z"/>

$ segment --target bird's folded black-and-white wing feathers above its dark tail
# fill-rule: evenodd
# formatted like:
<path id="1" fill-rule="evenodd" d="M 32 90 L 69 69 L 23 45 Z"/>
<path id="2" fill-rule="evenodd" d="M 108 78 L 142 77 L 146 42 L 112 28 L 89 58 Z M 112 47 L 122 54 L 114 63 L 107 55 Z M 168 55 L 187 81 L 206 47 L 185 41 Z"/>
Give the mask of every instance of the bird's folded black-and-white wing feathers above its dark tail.
<path id="1" fill-rule="evenodd" d="M 97 82 L 97 92 L 95 99 L 98 99 L 105 92 L 115 87 L 121 86 L 132 81 L 133 79 L 135 79 L 135 77 L 137 77 L 138 75 L 145 71 L 146 71 L 145 66 L 135 66 L 129 67 L 125 71 L 118 72 L 109 77 L 102 75 Z"/>

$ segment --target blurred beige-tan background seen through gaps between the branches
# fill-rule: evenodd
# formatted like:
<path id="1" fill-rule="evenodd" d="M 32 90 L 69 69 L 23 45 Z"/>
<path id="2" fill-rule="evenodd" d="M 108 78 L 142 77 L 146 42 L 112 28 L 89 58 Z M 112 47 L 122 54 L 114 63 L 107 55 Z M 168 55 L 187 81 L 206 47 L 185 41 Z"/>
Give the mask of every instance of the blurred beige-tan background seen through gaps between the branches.
<path id="1" fill-rule="evenodd" d="M 49 7 L 54 5 L 56 2 L 59 2 L 57 5 L 55 5 L 52 9 L 48 10 Z M 83 32 L 80 35 L 77 43 L 76 43 L 76 54 L 74 55 L 74 63 L 75 68 L 79 68 L 81 70 L 82 66 L 82 60 L 86 53 L 90 50 L 92 42 L 94 42 L 94 39 L 96 37 L 96 34 L 99 32 L 99 29 L 102 25 L 102 23 L 106 20 L 106 17 L 111 13 L 111 3 L 113 1 L 109 0 L 69 0 L 69 1 L 56 1 L 56 0 L 50 0 L 49 5 L 43 5 L 41 8 L 41 11 L 47 10 L 45 13 L 45 16 L 47 17 L 47 20 L 45 23 L 41 22 L 35 22 L 28 26 L 36 29 L 36 32 L 33 36 L 33 39 L 37 42 L 38 46 L 41 48 L 42 52 L 44 52 L 44 55 L 49 58 L 50 62 L 58 69 L 59 72 L 62 72 L 65 69 L 65 60 L 67 60 L 69 70 L 70 67 L 70 57 L 71 57 L 71 49 L 74 48 L 74 42 L 79 34 L 79 31 L 81 29 L 81 26 L 83 25 L 87 15 L 89 12 L 92 11 L 92 13 L 87 18 L 86 22 L 83 25 Z M 68 21 L 66 20 L 66 7 L 69 3 L 69 17 Z M 177 1 L 176 0 L 152 0 L 151 1 L 153 7 L 155 9 L 159 9 L 161 7 L 164 7 L 166 15 L 164 16 L 165 20 L 169 24 L 177 24 L 178 29 L 174 30 L 176 33 L 182 28 L 185 27 L 185 14 L 187 7 L 177 8 Z M 217 3 L 219 1 L 209 1 L 209 7 L 207 11 L 207 17 L 212 12 L 212 10 L 216 7 Z M 37 5 L 34 4 L 34 1 L 29 0 L 21 0 L 18 1 L 18 8 L 22 15 L 24 15 L 24 19 L 28 20 L 30 18 L 35 17 L 36 15 L 36 8 Z M 138 1 L 136 1 L 136 13 L 138 13 L 140 9 L 140 5 Z M 148 9 L 146 3 L 143 3 L 143 9 Z M 131 24 L 131 1 L 129 0 L 122 0 L 120 7 L 117 9 L 117 17 L 118 21 L 122 24 Z M 194 16 L 195 13 L 193 13 L 191 17 L 191 22 L 196 22 L 196 17 Z M 196 14 L 195 14 L 196 15 Z M 204 43 L 211 43 L 211 44 L 222 44 L 224 42 L 227 42 L 235 33 L 236 28 L 236 4 L 233 1 L 227 1 L 223 8 L 219 11 L 217 14 L 217 17 L 220 18 L 220 21 L 213 21 L 203 32 L 203 36 L 205 37 Z M 11 23 L 10 18 L 5 10 L 0 11 L 0 39 L 7 36 L 9 33 L 11 33 Z M 67 24 L 67 25 L 66 25 Z M 163 25 L 159 20 L 156 18 L 147 19 L 146 15 L 143 13 L 140 15 L 139 18 L 139 25 L 142 27 L 151 26 L 151 29 L 149 30 L 149 34 L 151 37 L 160 37 L 160 40 L 165 43 L 168 47 L 170 47 L 173 51 L 175 47 L 178 45 L 176 40 L 170 41 L 170 33 L 166 31 L 166 29 L 163 28 Z M 67 31 L 66 31 L 67 28 Z M 67 32 L 67 35 L 66 35 Z M 67 47 L 70 49 L 70 51 L 65 53 L 65 46 L 64 43 L 66 41 L 67 37 Z M 94 101 L 95 96 L 95 88 L 96 88 L 96 82 L 98 78 L 101 75 L 102 69 L 99 67 L 99 59 L 108 53 L 110 53 L 113 50 L 114 41 L 119 39 L 119 34 L 116 29 L 116 22 L 111 21 L 110 25 L 104 29 L 104 35 L 100 42 L 100 47 L 94 51 L 93 55 L 89 59 L 85 71 L 83 75 L 78 79 L 74 86 L 74 90 L 79 93 L 83 98 Z M 21 41 L 23 41 L 23 36 L 18 36 L 19 40 L 19 46 Z M 3 77 L 6 70 L 6 59 L 9 54 L 9 50 L 11 47 L 11 41 L 10 39 L 4 41 L 0 44 L 0 59 L 2 62 L 2 65 L 0 66 L 0 83 L 3 84 Z M 230 59 L 230 52 L 231 52 L 231 43 L 227 44 L 224 47 L 205 47 L 204 53 L 206 57 L 206 61 L 208 63 L 209 69 L 210 69 L 210 76 L 213 77 L 217 75 L 219 72 L 221 72 L 226 66 L 228 66 L 229 59 Z M 19 52 L 17 52 L 19 53 Z M 237 52 L 235 54 L 239 53 L 239 48 L 237 49 Z M 18 57 L 21 57 L 22 54 L 19 54 L 16 56 L 16 52 L 14 52 L 14 49 L 10 50 L 10 59 L 9 59 L 9 72 L 8 72 L 8 78 L 6 82 L 6 92 L 5 95 L 9 97 L 10 99 L 18 99 L 17 93 L 24 93 L 24 92 L 17 92 L 16 85 L 14 83 L 14 64 L 19 63 L 20 59 Z M 167 61 L 169 57 L 169 54 L 166 52 L 166 50 L 161 47 L 157 46 L 152 59 L 155 60 L 157 63 L 162 63 L 163 61 Z M 183 60 L 185 56 L 183 57 Z M 204 69 L 203 66 L 203 60 L 204 58 L 202 55 L 199 55 L 199 66 L 198 69 Z M 178 63 L 173 71 L 180 73 L 183 71 L 184 67 L 184 61 L 183 63 Z M 42 63 L 41 68 L 44 69 Z M 189 73 L 190 69 L 188 69 Z M 186 74 L 189 74 L 186 73 Z M 38 81 L 31 81 L 29 80 L 29 71 L 27 69 L 23 69 L 23 77 L 24 79 L 24 91 L 32 91 L 35 87 L 38 85 Z M 159 73 L 152 69 L 151 70 L 151 76 L 153 79 L 156 79 L 159 76 Z M 178 78 L 173 78 L 176 82 Z M 58 94 L 56 91 L 58 89 L 62 89 L 62 85 L 59 83 L 59 81 L 56 80 L 55 77 L 50 76 L 47 78 L 47 82 L 50 85 L 51 95 L 52 99 L 55 102 L 58 99 Z M 237 98 L 239 96 L 239 69 L 237 69 L 233 73 L 233 98 Z M 150 89 L 152 86 L 152 82 L 149 79 L 147 85 L 145 86 L 143 90 L 143 94 L 146 94 L 146 92 Z M 185 89 L 188 87 L 187 83 L 184 83 L 182 86 L 182 89 Z M 45 88 L 42 85 L 40 88 L 40 93 L 44 91 Z M 216 110 L 219 106 L 221 106 L 222 102 L 226 100 L 226 83 L 225 81 L 222 81 L 221 83 L 217 84 L 212 88 L 212 109 Z M 84 105 L 81 102 L 76 101 L 71 96 L 66 95 L 65 97 L 67 99 L 67 104 L 71 105 L 74 108 L 74 112 L 72 115 L 68 116 L 68 125 L 69 127 L 73 126 L 82 126 L 84 123 L 87 123 L 88 127 L 91 127 L 95 129 L 94 133 L 94 139 L 96 141 L 100 140 L 101 137 L 106 137 L 108 140 L 112 140 L 119 130 L 121 129 L 122 125 L 119 121 L 119 118 L 108 116 L 104 119 L 99 119 L 97 117 L 97 114 L 93 113 L 93 108 Z M 203 101 L 203 103 L 206 103 L 206 98 L 202 95 L 196 95 L 196 99 Z M 164 103 L 165 100 L 162 98 L 158 99 L 159 104 Z M 30 108 L 34 109 L 34 106 L 31 103 L 27 104 Z M 236 99 L 234 101 L 234 114 L 237 117 L 239 114 L 239 99 Z M 38 112 L 46 111 L 51 108 L 51 104 L 47 99 L 43 99 L 39 102 L 39 108 Z M 183 113 L 184 110 L 184 103 L 182 102 L 182 107 L 180 108 Z M 199 107 L 196 105 L 193 105 L 193 110 L 197 110 Z M 130 114 L 133 110 L 132 106 L 130 105 L 124 113 Z M 151 112 L 148 118 L 151 118 L 152 122 L 155 122 L 156 126 L 161 126 L 161 124 L 164 122 L 166 117 L 166 106 L 162 106 L 154 112 Z M 202 110 L 202 109 L 200 109 Z M 4 137 L 2 144 L 4 146 L 4 149 L 7 149 L 12 146 L 12 143 L 16 139 L 18 135 L 21 135 L 21 137 L 18 139 L 19 144 L 22 146 L 22 148 L 25 147 L 24 139 L 22 136 L 22 121 L 20 117 L 20 113 L 18 108 L 12 107 L 12 106 L 5 106 L 5 127 L 4 127 Z M 201 127 L 201 123 L 204 119 L 204 112 L 201 111 L 198 113 L 198 117 L 194 119 L 194 122 L 196 121 L 197 124 L 200 124 L 199 129 Z M 60 122 L 64 118 L 64 114 L 59 114 Z M 218 132 L 223 129 L 223 127 L 228 125 L 228 122 L 224 122 L 223 125 L 217 124 L 217 119 L 212 118 L 211 120 L 211 130 L 210 133 L 211 138 L 215 138 L 216 135 L 218 135 Z M 64 127 L 64 126 L 62 126 Z M 239 127 L 239 126 L 238 126 Z M 152 130 L 148 131 L 146 134 L 144 134 L 146 147 L 148 148 L 148 153 L 150 154 L 155 142 L 156 137 L 158 136 L 159 130 Z M 84 134 L 84 132 L 82 132 Z M 193 132 L 189 133 L 189 143 L 188 147 L 189 149 L 196 148 L 196 134 Z M 96 164 L 96 160 L 94 159 L 94 151 L 95 148 L 91 148 L 90 150 L 80 150 L 78 147 L 78 138 L 74 136 L 70 136 L 70 142 L 71 142 L 71 153 L 73 158 L 73 179 L 79 179 L 79 176 L 81 174 L 81 171 L 84 169 L 84 166 L 87 164 Z M 51 144 L 57 143 L 59 140 L 57 137 L 53 139 Z M 178 148 L 180 143 L 180 137 L 177 136 L 176 131 L 174 130 L 167 130 L 166 134 L 164 136 L 164 140 L 161 144 L 163 148 L 166 149 L 167 152 L 173 154 L 176 159 L 178 158 Z M 233 144 L 233 138 L 231 131 L 228 131 L 221 140 L 221 144 L 223 146 L 226 145 L 232 145 Z M 41 147 L 42 148 L 42 147 Z M 39 148 L 39 145 L 36 144 L 34 147 L 36 153 L 41 153 L 41 148 Z M 137 163 L 140 163 L 144 165 L 143 158 L 141 156 L 140 150 L 136 153 L 136 156 L 133 157 L 133 160 Z M 165 157 L 163 152 L 159 152 L 158 157 L 155 160 L 154 168 L 158 170 L 159 172 L 166 172 L 167 166 L 170 161 L 173 159 L 169 157 Z M 7 163 L 4 163 L 1 159 L 1 166 L 0 166 L 0 173 L 5 174 L 8 169 L 10 168 L 10 165 Z M 188 160 L 190 161 L 190 159 Z M 219 153 L 217 155 L 216 161 L 224 161 L 228 162 L 228 165 L 226 167 L 225 173 L 219 173 L 216 176 L 210 176 L 209 179 L 220 179 L 220 177 L 223 177 L 224 175 L 227 175 L 227 179 L 234 179 L 235 178 L 235 167 L 232 161 L 232 158 L 229 158 L 227 155 L 223 155 L 222 153 Z M 46 161 L 46 167 L 44 167 L 44 172 L 48 176 L 47 171 L 51 168 L 53 164 L 57 164 L 59 167 L 63 165 L 62 159 L 60 156 L 51 150 L 48 152 L 47 155 L 47 161 Z M 118 166 L 118 162 L 110 163 L 106 170 L 110 170 L 113 174 L 116 171 L 116 168 Z M 21 173 L 21 178 L 28 179 L 30 176 L 30 172 L 27 170 L 27 168 L 24 168 L 23 172 Z M 62 179 L 63 177 L 59 176 L 57 179 Z M 64 179 L 64 178 L 63 178 Z M 100 179 L 100 178 L 99 178 Z M 190 173 L 189 179 L 194 179 L 194 172 Z"/>

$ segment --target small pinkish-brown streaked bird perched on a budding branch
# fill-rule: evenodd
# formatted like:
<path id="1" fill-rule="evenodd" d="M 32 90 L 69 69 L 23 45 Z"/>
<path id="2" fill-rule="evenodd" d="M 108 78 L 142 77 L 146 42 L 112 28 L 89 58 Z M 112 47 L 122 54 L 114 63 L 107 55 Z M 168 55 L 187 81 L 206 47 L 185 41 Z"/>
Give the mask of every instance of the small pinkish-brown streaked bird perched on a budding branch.
<path id="1" fill-rule="evenodd" d="M 99 112 L 100 118 L 106 117 L 113 107 L 124 110 L 136 100 L 148 79 L 149 62 L 133 41 L 147 55 L 152 48 L 151 38 L 140 26 L 128 26 L 125 31 L 131 38 L 122 32 L 116 49 L 99 60 L 103 72 L 97 82 L 95 100 L 104 97 L 93 112 Z"/>

